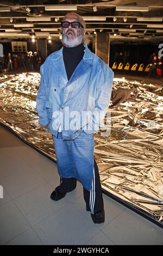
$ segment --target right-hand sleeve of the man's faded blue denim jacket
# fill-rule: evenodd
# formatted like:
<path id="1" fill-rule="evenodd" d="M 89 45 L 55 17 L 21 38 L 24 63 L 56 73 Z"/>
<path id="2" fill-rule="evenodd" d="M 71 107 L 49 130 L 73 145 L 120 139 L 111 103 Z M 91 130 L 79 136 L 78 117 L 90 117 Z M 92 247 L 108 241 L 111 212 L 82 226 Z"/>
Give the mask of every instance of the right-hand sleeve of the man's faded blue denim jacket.
<path id="1" fill-rule="evenodd" d="M 97 84 L 95 109 L 86 128 L 87 133 L 96 133 L 99 127 L 105 127 L 104 117 L 110 103 L 113 78 L 114 72 L 108 65 L 103 63 L 102 72 Z"/>

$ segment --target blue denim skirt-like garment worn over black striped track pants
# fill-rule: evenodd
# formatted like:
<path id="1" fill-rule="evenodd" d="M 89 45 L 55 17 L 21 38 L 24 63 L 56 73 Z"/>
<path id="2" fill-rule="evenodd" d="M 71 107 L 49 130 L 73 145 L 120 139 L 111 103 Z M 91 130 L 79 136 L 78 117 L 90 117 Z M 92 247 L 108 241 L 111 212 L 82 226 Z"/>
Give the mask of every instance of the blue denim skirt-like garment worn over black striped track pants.
<path id="1" fill-rule="evenodd" d="M 63 140 L 62 133 L 58 138 L 53 136 L 57 156 L 58 173 L 63 178 L 78 179 L 86 190 L 91 191 L 93 178 L 94 138 L 84 131 L 73 140 Z"/>

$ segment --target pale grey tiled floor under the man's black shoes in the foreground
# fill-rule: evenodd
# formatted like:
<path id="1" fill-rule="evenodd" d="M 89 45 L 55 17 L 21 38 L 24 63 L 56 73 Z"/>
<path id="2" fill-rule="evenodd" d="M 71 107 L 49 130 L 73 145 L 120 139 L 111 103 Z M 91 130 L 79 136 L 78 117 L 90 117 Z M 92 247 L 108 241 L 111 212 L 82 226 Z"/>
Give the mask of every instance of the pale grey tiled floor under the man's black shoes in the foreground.
<path id="1" fill-rule="evenodd" d="M 0 126 L 1 245 L 161 245 L 163 230 L 103 195 L 105 223 L 94 224 L 83 188 L 53 202 L 57 165 Z"/>

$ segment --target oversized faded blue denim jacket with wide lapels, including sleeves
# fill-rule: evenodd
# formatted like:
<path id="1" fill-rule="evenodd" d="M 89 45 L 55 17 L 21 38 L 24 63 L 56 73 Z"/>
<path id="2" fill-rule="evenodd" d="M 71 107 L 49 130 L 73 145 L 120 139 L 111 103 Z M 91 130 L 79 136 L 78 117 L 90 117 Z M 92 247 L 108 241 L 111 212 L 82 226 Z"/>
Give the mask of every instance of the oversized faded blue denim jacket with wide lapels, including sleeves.
<path id="1" fill-rule="evenodd" d="M 75 139 L 82 130 L 96 133 L 99 126 L 103 126 L 114 73 L 84 46 L 83 59 L 70 80 L 67 80 L 63 47 L 50 54 L 40 68 L 41 82 L 36 98 L 39 123 L 43 126 L 49 123 L 49 131 L 55 137 L 58 137 L 59 126 L 63 139 Z"/>

